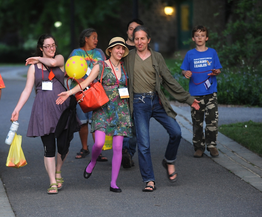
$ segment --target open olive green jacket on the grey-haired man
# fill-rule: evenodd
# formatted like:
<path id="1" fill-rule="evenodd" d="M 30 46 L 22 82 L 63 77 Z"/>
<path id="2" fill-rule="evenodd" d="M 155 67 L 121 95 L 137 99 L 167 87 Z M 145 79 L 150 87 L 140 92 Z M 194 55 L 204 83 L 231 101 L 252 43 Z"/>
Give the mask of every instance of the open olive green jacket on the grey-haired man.
<path id="1" fill-rule="evenodd" d="M 161 103 L 164 107 L 164 110 L 167 112 L 167 115 L 175 118 L 177 113 L 174 112 L 172 109 L 169 101 L 164 96 L 163 91 L 160 89 L 160 85 L 162 84 L 164 88 L 180 103 L 187 103 L 188 105 L 192 105 L 195 98 L 190 95 L 187 91 L 181 87 L 181 85 L 174 79 L 171 75 L 167 65 L 164 61 L 162 55 L 158 52 L 153 51 L 149 48 L 152 56 L 152 65 L 155 68 L 156 74 L 156 84 L 155 90 L 158 92 L 158 96 L 161 100 Z M 137 50 L 133 49 L 129 52 L 129 54 L 124 57 L 126 70 L 128 73 L 128 90 L 129 90 L 129 105 L 130 105 L 130 113 L 133 114 L 133 80 L 134 80 L 134 62 L 135 62 L 135 55 Z"/>

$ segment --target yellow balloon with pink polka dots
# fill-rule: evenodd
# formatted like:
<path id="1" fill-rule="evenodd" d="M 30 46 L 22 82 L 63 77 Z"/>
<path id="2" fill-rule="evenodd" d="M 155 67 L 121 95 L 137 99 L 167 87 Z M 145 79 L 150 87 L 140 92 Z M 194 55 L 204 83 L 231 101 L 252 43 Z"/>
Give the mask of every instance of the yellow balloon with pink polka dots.
<path id="1" fill-rule="evenodd" d="M 87 71 L 87 63 L 83 57 L 72 56 L 65 63 L 65 71 L 69 77 L 79 79 L 84 77 Z"/>

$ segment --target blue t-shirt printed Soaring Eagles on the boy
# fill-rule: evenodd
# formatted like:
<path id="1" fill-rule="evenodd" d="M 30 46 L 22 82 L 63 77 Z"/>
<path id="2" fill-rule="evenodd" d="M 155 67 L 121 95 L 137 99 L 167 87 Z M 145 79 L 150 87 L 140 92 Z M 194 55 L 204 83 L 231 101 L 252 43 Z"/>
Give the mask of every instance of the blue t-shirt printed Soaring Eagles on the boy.
<path id="1" fill-rule="evenodd" d="M 211 69 L 222 68 L 217 52 L 214 49 L 208 48 L 204 52 L 199 52 L 196 49 L 188 51 L 180 68 L 192 72 L 192 77 L 189 80 L 189 93 L 191 96 L 203 96 L 217 92 L 216 76 L 213 75 L 208 79 L 208 74 L 212 73 Z M 211 84 L 208 89 L 204 85 L 204 81 L 207 79 Z"/>

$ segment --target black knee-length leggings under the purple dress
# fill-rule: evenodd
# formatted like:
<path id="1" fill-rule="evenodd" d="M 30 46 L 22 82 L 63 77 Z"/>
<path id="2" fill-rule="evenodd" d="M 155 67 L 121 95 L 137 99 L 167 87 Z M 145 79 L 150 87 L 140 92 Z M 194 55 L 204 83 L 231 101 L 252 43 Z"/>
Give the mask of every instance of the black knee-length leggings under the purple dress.
<path id="1" fill-rule="evenodd" d="M 57 152 L 61 154 L 63 147 L 65 145 L 65 137 L 66 137 L 66 130 L 63 130 L 61 135 L 56 139 L 54 137 L 54 133 L 49 133 L 48 135 L 41 136 L 41 140 L 45 148 L 45 157 L 52 158 L 56 156 L 56 143 L 57 143 Z"/>

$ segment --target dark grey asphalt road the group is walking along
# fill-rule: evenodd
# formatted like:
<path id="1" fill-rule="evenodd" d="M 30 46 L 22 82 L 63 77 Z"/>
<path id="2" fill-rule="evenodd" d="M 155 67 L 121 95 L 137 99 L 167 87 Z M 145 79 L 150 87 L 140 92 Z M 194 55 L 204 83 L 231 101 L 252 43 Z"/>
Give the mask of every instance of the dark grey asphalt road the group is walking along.
<path id="1" fill-rule="evenodd" d="M 3 76 L 1 67 L 0 73 Z M 5 76 L 3 77 L 5 79 Z M 92 176 L 84 179 L 83 171 L 91 156 L 81 160 L 74 158 L 80 148 L 79 136 L 75 134 L 68 158 L 62 167 L 64 186 L 57 195 L 47 195 L 49 179 L 43 163 L 41 140 L 26 137 L 34 93 L 20 112 L 18 129 L 18 133 L 23 137 L 22 148 L 28 165 L 19 169 L 5 166 L 9 146 L 4 140 L 11 124 L 11 112 L 25 81 L 6 79 L 5 84 L 6 89 L 3 89 L 0 101 L 0 177 L 17 217 L 261 216 L 261 191 L 233 174 L 232 170 L 215 163 L 208 155 L 193 158 L 192 144 L 184 139 L 180 143 L 177 156 L 179 179 L 175 184 L 170 183 L 161 165 L 168 136 L 154 119 L 150 126 L 150 140 L 157 190 L 152 193 L 142 192 L 144 183 L 141 181 L 135 154 L 135 166 L 130 169 L 121 167 L 119 173 L 117 184 L 123 192 L 110 192 L 111 150 L 103 152 L 109 161 L 98 162 Z M 179 120 L 186 125 L 182 119 Z M 88 143 L 91 146 L 91 136 Z M 216 159 L 223 159 L 222 154 Z M 1 199 L 0 196 L 0 201 Z"/>

